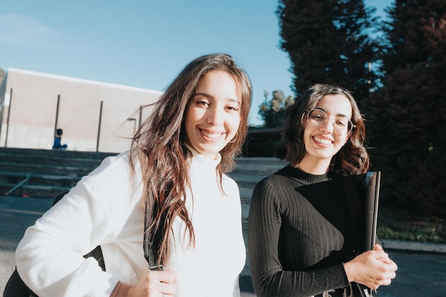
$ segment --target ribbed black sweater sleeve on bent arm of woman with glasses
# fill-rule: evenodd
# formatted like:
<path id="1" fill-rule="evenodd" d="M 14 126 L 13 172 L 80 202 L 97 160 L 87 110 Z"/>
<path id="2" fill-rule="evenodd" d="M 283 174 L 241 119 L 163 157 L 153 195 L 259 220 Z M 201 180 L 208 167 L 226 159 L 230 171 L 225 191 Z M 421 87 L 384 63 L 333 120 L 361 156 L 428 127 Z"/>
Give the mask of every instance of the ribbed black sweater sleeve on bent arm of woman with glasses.
<path id="1" fill-rule="evenodd" d="M 348 286 L 342 263 L 302 271 L 283 269 L 281 261 L 289 260 L 286 255 L 279 256 L 282 214 L 288 210 L 278 197 L 283 194 L 268 179 L 259 182 L 252 194 L 248 225 L 249 265 L 257 296 L 313 296 Z M 298 249 L 296 246 L 296 252 Z"/>

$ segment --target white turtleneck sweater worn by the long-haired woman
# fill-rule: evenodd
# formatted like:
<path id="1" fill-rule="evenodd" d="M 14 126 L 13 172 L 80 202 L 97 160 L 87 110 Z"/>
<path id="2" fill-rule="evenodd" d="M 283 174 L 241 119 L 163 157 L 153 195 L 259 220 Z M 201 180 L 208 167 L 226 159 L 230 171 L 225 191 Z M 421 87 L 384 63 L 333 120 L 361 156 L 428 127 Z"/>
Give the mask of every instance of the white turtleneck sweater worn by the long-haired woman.
<path id="1" fill-rule="evenodd" d="M 177 276 L 177 297 L 239 296 L 245 263 L 239 189 L 218 160 L 193 152 L 190 197 L 196 246 L 184 241 L 184 223 L 174 223 L 175 241 L 165 264 Z M 122 281 L 135 286 L 148 264 L 142 250 L 144 207 L 139 167 L 130 177 L 129 152 L 106 158 L 30 226 L 16 250 L 21 278 L 38 296 L 110 296 Z M 83 254 L 100 245 L 106 272 Z"/>

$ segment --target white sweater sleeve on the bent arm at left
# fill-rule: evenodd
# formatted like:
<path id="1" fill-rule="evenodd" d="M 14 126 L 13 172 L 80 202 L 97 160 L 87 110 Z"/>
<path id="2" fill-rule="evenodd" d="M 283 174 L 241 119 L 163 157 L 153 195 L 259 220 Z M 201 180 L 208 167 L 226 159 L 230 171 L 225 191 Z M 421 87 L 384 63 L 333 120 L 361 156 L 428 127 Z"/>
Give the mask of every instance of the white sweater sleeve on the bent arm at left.
<path id="1" fill-rule="evenodd" d="M 122 199 L 128 192 L 128 186 L 118 181 L 125 176 L 127 163 L 110 166 L 110 162 L 83 177 L 21 239 L 16 249 L 17 271 L 38 296 L 106 297 L 119 281 L 102 271 L 95 259 L 83 258 L 102 242 L 113 241 L 118 218 L 110 219 L 110 199 Z"/>

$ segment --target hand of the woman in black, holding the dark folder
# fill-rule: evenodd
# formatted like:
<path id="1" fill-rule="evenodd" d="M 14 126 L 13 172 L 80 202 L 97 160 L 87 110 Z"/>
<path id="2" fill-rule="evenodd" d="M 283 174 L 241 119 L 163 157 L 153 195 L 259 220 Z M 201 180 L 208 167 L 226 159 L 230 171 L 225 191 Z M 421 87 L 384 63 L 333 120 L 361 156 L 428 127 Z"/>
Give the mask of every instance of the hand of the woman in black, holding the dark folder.
<path id="1" fill-rule="evenodd" d="M 398 266 L 383 248 L 375 244 L 373 251 L 365 251 L 344 264 L 349 282 L 362 283 L 369 288 L 388 286 L 395 278 Z"/>

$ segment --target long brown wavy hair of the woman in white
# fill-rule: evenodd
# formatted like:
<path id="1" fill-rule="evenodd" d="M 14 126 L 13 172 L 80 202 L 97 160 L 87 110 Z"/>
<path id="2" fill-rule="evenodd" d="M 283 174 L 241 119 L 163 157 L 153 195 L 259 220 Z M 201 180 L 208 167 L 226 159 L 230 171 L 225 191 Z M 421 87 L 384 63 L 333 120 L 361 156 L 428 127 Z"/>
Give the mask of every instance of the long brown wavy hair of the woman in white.
<path id="1" fill-rule="evenodd" d="M 214 53 L 195 58 L 187 64 L 167 86 L 160 99 L 147 105 L 152 108 L 152 113 L 133 137 L 130 156 L 141 165 L 144 182 L 142 198 L 147 209 L 156 209 L 148 233 L 155 236 L 155 231 L 161 230 L 158 264 L 169 259 L 169 234 L 173 234 L 172 224 L 176 217 L 185 222 L 185 236 L 188 232 L 192 239 L 190 244 L 195 246 L 194 228 L 186 209 L 187 199 L 192 199 L 187 197 L 187 189 L 190 187 L 187 158 L 191 152 L 185 145 L 187 135 L 183 119 L 199 79 L 209 71 L 229 73 L 236 82 L 240 102 L 240 125 L 234 142 L 229 142 L 220 151 L 222 161 L 217 166 L 217 173 L 222 187 L 222 174 L 233 169 L 234 157 L 242 150 L 251 108 L 251 81 L 232 56 Z M 135 166 L 133 162 L 131 164 L 134 172 Z"/>

